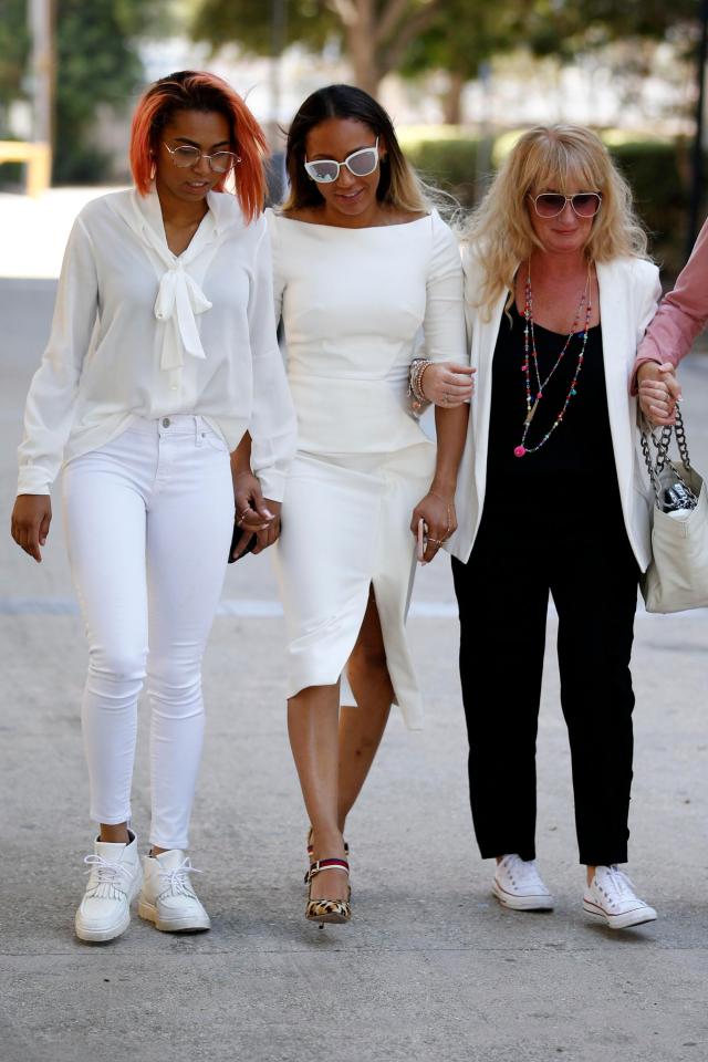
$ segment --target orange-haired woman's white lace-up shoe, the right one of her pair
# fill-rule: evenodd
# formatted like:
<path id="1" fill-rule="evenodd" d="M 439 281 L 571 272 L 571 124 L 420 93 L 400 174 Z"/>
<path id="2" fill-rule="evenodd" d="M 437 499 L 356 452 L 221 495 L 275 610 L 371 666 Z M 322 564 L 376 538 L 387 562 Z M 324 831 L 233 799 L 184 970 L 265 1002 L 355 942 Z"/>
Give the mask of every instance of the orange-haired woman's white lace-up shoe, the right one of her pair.
<path id="1" fill-rule="evenodd" d="M 140 918 L 154 922 L 165 933 L 198 933 L 211 923 L 189 881 L 200 874 L 180 848 L 143 860 L 145 881 L 137 905 Z"/>

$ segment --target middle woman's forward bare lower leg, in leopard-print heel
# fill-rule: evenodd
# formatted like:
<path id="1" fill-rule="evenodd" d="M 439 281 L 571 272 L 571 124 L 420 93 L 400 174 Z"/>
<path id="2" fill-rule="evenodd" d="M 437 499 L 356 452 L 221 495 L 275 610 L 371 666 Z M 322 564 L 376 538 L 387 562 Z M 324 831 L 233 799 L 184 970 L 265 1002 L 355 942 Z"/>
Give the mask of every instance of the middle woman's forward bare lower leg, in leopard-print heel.
<path id="1" fill-rule="evenodd" d="M 314 858 L 344 858 L 337 824 L 340 684 L 309 686 L 288 701 L 288 732 L 313 830 Z M 343 871 L 312 881 L 313 899 L 346 899 Z"/>

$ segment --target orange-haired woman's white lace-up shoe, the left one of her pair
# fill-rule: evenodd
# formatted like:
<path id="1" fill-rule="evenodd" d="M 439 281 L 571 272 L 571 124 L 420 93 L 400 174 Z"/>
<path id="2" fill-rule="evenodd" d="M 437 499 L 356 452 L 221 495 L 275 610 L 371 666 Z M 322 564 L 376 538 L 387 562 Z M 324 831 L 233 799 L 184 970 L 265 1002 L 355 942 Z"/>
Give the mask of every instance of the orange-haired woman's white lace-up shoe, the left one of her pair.
<path id="1" fill-rule="evenodd" d="M 84 863 L 91 870 L 74 919 L 76 936 L 80 940 L 113 940 L 131 924 L 131 904 L 143 881 L 135 834 L 128 844 L 95 841 L 93 855 L 85 856 Z"/>

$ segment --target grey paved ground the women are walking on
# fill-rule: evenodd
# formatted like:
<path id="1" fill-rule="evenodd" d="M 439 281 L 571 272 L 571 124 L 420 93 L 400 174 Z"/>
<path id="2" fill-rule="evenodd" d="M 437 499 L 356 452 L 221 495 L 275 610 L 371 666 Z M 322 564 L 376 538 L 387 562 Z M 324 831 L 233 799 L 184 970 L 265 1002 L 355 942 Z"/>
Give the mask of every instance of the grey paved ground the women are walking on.
<path id="1" fill-rule="evenodd" d="M 6 513 L 52 287 L 0 281 Z M 684 389 L 695 460 L 708 468 L 708 360 L 686 365 Z M 170 938 L 136 920 L 115 945 L 92 948 L 72 934 L 90 832 L 77 714 L 85 646 L 60 513 L 52 539 L 41 566 L 0 540 L 3 1062 L 708 1058 L 705 615 L 637 620 L 631 871 L 660 919 L 613 936 L 580 906 L 553 664 L 539 738 L 539 854 L 558 909 L 517 915 L 491 899 L 467 810 L 449 572 L 445 562 L 426 569 L 410 633 L 427 727 L 412 735 L 392 721 L 348 830 L 354 920 L 317 930 L 302 917 L 305 820 L 284 728 L 282 620 L 267 558 L 241 562 L 228 573 L 206 662 L 192 831 L 214 929 Z M 551 620 L 550 648 L 554 635 Z M 144 836 L 144 729 L 140 739 Z"/>

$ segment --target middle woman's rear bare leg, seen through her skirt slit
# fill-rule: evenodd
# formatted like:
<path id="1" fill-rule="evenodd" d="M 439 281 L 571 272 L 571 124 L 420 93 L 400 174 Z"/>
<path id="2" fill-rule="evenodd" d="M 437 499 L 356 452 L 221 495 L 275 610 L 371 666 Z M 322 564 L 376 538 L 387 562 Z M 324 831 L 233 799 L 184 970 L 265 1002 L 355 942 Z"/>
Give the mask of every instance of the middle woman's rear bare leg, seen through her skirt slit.
<path id="1" fill-rule="evenodd" d="M 348 660 L 347 677 L 357 707 L 343 707 L 340 712 L 337 824 L 341 831 L 374 762 L 394 699 L 373 589 Z"/>

